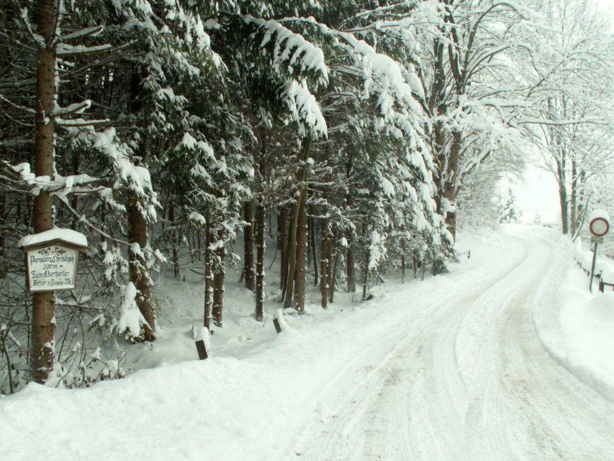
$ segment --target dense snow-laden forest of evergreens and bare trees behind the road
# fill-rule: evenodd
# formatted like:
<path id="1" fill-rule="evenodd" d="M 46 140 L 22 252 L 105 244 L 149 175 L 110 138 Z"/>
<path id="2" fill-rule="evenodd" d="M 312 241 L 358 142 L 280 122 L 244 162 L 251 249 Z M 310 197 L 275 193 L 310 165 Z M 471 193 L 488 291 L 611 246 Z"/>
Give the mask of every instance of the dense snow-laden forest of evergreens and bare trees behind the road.
<path id="1" fill-rule="evenodd" d="M 205 326 L 228 270 L 262 320 L 267 241 L 299 313 L 308 262 L 323 308 L 445 272 L 528 152 L 577 235 L 613 173 L 613 45 L 589 0 L 0 0 L 0 393 L 98 379 L 87 332 L 154 341 L 186 261 Z M 33 300 L 17 241 L 53 226 L 89 249 Z"/>

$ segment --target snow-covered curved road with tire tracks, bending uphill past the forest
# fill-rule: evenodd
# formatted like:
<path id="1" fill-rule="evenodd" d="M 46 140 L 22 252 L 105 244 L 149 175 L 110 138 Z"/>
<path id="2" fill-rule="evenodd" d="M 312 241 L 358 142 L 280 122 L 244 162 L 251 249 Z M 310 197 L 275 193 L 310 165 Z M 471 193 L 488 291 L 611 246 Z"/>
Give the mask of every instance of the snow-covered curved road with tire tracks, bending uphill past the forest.
<path id="1" fill-rule="evenodd" d="M 301 459 L 614 459 L 614 404 L 559 366 L 532 322 L 558 283 L 554 243 L 511 235 L 513 257 L 461 279 L 371 362 L 340 372 Z"/>

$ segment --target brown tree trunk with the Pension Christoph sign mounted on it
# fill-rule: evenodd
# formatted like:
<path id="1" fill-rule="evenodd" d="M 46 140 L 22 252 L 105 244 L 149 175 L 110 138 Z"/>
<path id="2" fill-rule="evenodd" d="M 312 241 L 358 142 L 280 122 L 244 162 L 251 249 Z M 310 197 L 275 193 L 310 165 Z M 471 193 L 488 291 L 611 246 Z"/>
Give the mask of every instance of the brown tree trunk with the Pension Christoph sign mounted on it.
<path id="1" fill-rule="evenodd" d="M 53 151 L 55 145 L 55 119 L 53 112 L 56 98 L 55 66 L 56 49 L 50 45 L 55 40 L 56 2 L 37 2 L 37 34 L 47 44 L 37 49 L 36 62 L 36 120 L 34 125 L 34 170 L 36 176 L 54 178 Z M 41 191 L 34 199 L 34 232 L 44 232 L 53 227 L 53 199 L 48 191 Z M 55 293 L 33 293 L 32 316 L 32 376 L 43 384 L 49 378 L 55 360 Z"/>

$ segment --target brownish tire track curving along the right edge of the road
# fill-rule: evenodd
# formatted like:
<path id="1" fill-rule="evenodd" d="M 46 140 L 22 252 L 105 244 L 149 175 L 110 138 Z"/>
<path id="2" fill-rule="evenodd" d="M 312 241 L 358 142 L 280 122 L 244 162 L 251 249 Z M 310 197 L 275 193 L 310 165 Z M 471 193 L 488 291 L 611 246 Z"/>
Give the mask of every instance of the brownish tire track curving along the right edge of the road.
<path id="1" fill-rule="evenodd" d="M 551 255 L 550 242 L 544 243 Z M 527 402 L 526 417 L 531 420 L 534 435 L 533 451 L 527 455 L 550 459 L 611 458 L 612 405 L 556 363 L 538 339 L 529 307 L 534 301 L 532 294 L 543 283 L 548 283 L 547 277 L 519 294 L 501 320 L 502 363 L 508 374 L 523 384 L 525 392 L 519 398 Z M 517 395 L 518 387 L 510 387 L 510 391 Z"/>

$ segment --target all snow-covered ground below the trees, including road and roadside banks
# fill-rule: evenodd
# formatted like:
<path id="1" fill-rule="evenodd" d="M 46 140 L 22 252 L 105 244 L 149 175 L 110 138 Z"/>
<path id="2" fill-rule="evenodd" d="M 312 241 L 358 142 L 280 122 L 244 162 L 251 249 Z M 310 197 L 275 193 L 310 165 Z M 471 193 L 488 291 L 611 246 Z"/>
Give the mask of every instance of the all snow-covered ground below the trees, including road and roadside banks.
<path id="1" fill-rule="evenodd" d="M 279 335 L 278 304 L 257 323 L 229 287 L 205 361 L 201 281 L 163 279 L 175 310 L 131 346 L 139 371 L 0 399 L 2 459 L 611 458 L 614 294 L 589 294 L 549 229 L 462 235 L 459 250 L 451 274 L 384 275 L 362 304 L 337 293 L 323 311 L 314 290 Z"/>

